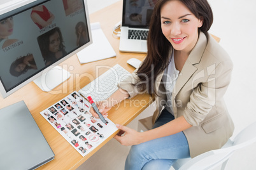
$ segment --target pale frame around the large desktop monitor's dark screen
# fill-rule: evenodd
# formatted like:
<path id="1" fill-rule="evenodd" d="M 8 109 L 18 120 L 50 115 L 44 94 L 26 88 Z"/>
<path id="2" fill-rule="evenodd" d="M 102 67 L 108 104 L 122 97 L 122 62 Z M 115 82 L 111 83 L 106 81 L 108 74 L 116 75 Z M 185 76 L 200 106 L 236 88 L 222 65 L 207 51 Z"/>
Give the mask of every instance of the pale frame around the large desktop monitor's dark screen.
<path id="1" fill-rule="evenodd" d="M 0 20 L 2 20 L 4 18 L 8 18 L 8 16 L 13 16 L 16 13 L 20 13 L 22 11 L 28 10 L 32 6 L 37 6 L 37 5 L 41 4 L 41 3 L 45 3 L 47 1 L 54 1 L 54 0 L 38 0 L 38 1 L 31 0 L 31 1 L 32 2 L 30 2 L 30 3 L 27 2 L 26 4 L 22 4 L 22 6 L 19 6 L 18 8 L 15 8 L 15 10 L 10 10 L 10 11 L 8 11 L 6 13 L 3 13 L 1 15 L 1 17 L 0 17 Z M 89 42 L 87 42 L 83 46 L 80 46 L 78 49 L 75 49 L 75 51 L 73 51 L 73 52 L 69 53 L 68 55 L 64 56 L 63 58 L 61 58 L 57 62 L 54 62 L 51 65 L 48 65 L 48 67 L 45 67 L 45 69 L 41 70 L 37 74 L 32 75 L 32 77 L 30 77 L 29 79 L 27 79 L 24 82 L 21 82 L 15 88 L 10 89 L 10 91 L 6 91 L 5 90 L 3 82 L 0 80 L 0 95 L 2 96 L 2 98 L 6 98 L 7 96 L 10 96 L 11 94 L 15 93 L 15 91 L 17 91 L 18 89 L 21 89 L 25 85 L 29 84 L 29 82 L 34 81 L 34 79 L 37 79 L 38 77 L 40 77 L 45 72 L 48 72 L 49 70 L 53 69 L 53 67 L 55 67 L 55 66 L 59 65 L 60 63 L 64 62 L 65 60 L 67 60 L 71 56 L 74 56 L 76 53 L 78 53 L 78 51 L 81 51 L 83 48 L 86 48 L 87 46 L 92 44 L 92 32 L 91 32 L 91 27 L 90 27 L 90 16 L 89 16 L 87 0 L 82 0 L 82 1 L 83 1 L 83 5 L 85 7 L 85 16 L 86 16 L 85 19 L 87 20 L 87 29 L 88 29 L 88 32 L 89 32 Z"/>

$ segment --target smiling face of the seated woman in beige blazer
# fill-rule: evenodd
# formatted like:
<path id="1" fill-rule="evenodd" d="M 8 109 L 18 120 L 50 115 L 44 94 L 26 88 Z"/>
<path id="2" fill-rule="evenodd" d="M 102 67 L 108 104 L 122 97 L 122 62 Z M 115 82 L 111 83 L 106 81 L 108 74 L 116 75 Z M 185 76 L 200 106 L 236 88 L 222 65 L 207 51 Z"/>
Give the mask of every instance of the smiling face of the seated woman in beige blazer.
<path id="1" fill-rule="evenodd" d="M 167 1 L 160 10 L 162 33 L 178 51 L 190 53 L 198 39 L 198 29 L 203 25 L 181 1 Z"/>

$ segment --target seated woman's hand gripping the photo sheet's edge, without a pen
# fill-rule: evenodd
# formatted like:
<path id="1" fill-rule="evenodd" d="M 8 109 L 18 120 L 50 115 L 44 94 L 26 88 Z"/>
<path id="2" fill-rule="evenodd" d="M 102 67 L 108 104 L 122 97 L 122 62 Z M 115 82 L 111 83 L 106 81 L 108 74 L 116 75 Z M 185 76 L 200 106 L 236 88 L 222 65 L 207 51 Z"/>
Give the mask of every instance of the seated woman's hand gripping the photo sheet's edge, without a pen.
<path id="1" fill-rule="evenodd" d="M 138 131 L 135 131 L 134 129 L 128 128 L 126 126 L 122 126 L 120 124 L 117 124 L 116 126 L 121 131 L 116 136 L 114 136 L 114 138 L 119 143 L 121 143 L 121 145 L 130 146 L 142 143 L 141 133 Z M 122 134 L 124 134 L 124 136 L 121 136 Z"/>

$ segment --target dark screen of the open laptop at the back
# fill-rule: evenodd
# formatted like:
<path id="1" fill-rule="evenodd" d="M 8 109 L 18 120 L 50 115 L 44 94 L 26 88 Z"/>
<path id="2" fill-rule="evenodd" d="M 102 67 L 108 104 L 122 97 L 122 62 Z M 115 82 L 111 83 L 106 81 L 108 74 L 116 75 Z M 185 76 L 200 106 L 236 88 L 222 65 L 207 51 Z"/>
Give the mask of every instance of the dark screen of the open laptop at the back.
<path id="1" fill-rule="evenodd" d="M 122 26 L 148 28 L 157 0 L 124 0 Z"/>

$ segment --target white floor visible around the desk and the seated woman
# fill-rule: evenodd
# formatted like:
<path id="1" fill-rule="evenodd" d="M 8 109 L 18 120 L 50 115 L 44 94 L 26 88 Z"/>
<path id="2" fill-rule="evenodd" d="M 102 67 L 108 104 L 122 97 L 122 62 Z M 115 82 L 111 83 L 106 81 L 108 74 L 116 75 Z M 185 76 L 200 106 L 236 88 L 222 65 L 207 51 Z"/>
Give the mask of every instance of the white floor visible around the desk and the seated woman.
<path id="1" fill-rule="evenodd" d="M 89 13 L 104 8 L 118 0 L 88 0 Z M 220 45 L 229 53 L 234 62 L 232 82 L 225 94 L 227 107 L 235 124 L 234 136 L 252 122 L 256 121 L 256 1 L 208 0 L 213 10 L 214 22 L 210 33 L 221 38 Z M 110 32 L 111 34 L 111 32 Z M 153 107 L 132 121 L 128 127 L 137 129 L 138 120 L 152 114 Z M 124 169 L 129 147 L 123 147 L 110 140 L 103 148 L 84 162 L 81 169 Z M 256 169 L 256 143 L 237 151 L 229 160 L 227 169 Z M 100 164 L 99 164 L 100 162 Z M 215 170 L 220 169 L 217 167 Z"/>

